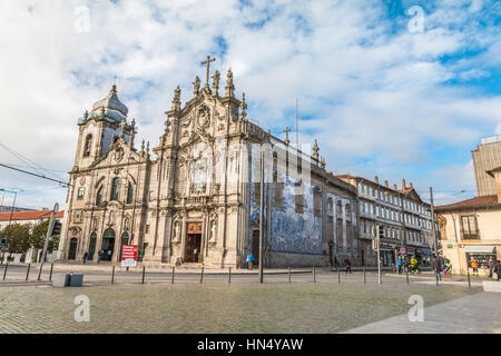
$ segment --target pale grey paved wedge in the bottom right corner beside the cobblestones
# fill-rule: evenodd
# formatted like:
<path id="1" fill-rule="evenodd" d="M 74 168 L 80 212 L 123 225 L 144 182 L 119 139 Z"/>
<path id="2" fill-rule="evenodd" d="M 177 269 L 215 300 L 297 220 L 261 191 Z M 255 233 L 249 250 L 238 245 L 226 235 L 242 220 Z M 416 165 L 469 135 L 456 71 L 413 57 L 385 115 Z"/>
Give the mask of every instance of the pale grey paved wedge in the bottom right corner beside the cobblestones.
<path id="1" fill-rule="evenodd" d="M 426 300 L 424 300 L 426 303 Z M 424 305 L 425 306 L 425 305 Z M 412 305 L 409 305 L 412 308 Z M 424 322 L 407 314 L 367 324 L 347 334 L 501 334 L 501 298 L 479 293 L 424 308 Z"/>

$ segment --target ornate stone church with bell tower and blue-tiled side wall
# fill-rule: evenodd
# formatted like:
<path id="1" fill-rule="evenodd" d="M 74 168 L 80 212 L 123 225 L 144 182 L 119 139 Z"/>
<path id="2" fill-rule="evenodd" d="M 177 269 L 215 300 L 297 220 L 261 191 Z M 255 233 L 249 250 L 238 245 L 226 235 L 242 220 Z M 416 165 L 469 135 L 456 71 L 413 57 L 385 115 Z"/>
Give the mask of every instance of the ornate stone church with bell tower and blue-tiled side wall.
<path id="1" fill-rule="evenodd" d="M 174 90 L 153 148 L 136 148 L 136 122 L 116 86 L 79 119 L 60 257 L 81 260 L 87 251 L 95 261 L 102 250 L 104 260 L 119 263 L 131 244 L 145 266 L 242 268 L 249 251 L 258 258 L 263 229 L 266 267 L 328 266 L 347 256 L 356 264 L 356 188 L 325 170 L 316 141 L 308 152 L 291 144 L 288 128 L 281 139 L 247 118 L 230 69 L 222 96 L 210 61 L 188 101 Z"/>

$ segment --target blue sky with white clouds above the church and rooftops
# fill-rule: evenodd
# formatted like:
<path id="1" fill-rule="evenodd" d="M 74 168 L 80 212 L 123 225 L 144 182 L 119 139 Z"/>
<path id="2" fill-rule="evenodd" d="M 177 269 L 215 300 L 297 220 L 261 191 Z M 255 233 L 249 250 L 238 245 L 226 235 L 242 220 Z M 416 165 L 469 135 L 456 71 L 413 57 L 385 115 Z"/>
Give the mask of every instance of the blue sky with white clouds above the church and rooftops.
<path id="1" fill-rule="evenodd" d="M 405 178 L 423 198 L 433 186 L 448 204 L 475 194 L 471 150 L 501 134 L 500 22 L 493 0 L 3 1 L 0 140 L 66 178 L 77 119 L 117 76 L 137 141 L 155 147 L 174 89 L 189 100 L 212 55 L 277 136 L 298 98 L 301 141 L 318 139 L 328 170 Z M 0 187 L 27 207 L 66 198 L 4 169 Z"/>

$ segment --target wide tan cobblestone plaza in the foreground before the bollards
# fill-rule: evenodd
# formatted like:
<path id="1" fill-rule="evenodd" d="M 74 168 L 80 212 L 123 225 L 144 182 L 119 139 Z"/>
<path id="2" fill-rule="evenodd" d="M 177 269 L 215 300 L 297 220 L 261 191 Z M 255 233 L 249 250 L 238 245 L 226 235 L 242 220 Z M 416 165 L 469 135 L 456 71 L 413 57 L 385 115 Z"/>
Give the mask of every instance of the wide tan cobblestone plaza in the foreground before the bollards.
<path id="1" fill-rule="evenodd" d="M 120 284 L 81 288 L 3 286 L 0 333 L 338 333 L 479 293 L 411 284 Z M 75 322 L 75 297 L 90 322 Z M 451 312 L 453 313 L 453 310 Z"/>

